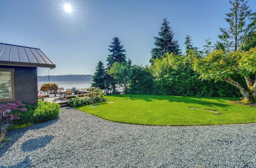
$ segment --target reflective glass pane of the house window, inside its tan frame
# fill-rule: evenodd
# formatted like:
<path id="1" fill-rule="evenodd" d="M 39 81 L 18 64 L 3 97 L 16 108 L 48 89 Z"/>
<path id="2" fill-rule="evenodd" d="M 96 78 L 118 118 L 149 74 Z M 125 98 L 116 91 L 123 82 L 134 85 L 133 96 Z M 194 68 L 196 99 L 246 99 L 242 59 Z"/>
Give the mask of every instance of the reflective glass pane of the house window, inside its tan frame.
<path id="1" fill-rule="evenodd" d="M 0 99 L 11 98 L 11 72 L 0 71 Z"/>

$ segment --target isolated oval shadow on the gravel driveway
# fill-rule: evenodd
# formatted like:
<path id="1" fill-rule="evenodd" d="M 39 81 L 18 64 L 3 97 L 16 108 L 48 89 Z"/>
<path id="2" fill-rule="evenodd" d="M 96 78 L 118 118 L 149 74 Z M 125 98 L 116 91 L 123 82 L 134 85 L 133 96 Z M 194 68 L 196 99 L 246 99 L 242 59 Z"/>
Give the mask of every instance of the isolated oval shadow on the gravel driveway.
<path id="1" fill-rule="evenodd" d="M 31 152 L 39 148 L 44 148 L 47 144 L 49 144 L 52 141 L 53 137 L 54 136 L 52 135 L 46 135 L 30 139 L 22 144 L 22 151 Z"/>

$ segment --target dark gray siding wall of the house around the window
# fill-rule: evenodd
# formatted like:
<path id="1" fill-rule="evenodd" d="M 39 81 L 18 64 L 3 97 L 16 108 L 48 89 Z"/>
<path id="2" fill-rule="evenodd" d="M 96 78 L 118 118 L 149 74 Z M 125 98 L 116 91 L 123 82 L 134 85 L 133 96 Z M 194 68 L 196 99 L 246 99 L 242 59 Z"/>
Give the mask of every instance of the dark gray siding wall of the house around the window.
<path id="1" fill-rule="evenodd" d="M 0 68 L 14 69 L 14 92 L 15 100 L 24 103 L 37 103 L 37 68 L 2 66 Z M 6 102 L 1 102 L 6 103 Z"/>

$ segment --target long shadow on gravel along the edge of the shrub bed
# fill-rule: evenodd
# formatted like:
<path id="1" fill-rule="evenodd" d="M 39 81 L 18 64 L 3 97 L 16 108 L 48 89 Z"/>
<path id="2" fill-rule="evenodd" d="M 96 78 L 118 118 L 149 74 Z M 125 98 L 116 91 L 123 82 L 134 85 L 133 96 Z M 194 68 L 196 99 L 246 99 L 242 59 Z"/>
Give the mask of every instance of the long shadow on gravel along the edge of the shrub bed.
<path id="1" fill-rule="evenodd" d="M 4 142 L 3 143 L 4 148 L 0 149 L 0 157 L 2 157 L 8 151 L 8 149 L 13 144 L 15 144 L 16 141 L 18 141 L 18 139 L 20 137 L 22 137 L 28 130 L 38 130 L 38 129 L 41 129 L 41 128 L 45 128 L 45 127 L 48 127 L 48 126 L 56 123 L 57 121 L 58 121 L 58 118 L 54 119 L 54 120 L 51 120 L 51 121 L 48 121 L 48 122 L 45 122 L 45 123 L 34 124 L 34 125 L 31 125 L 31 126 L 28 126 L 28 127 L 25 127 L 25 128 L 15 129 L 15 130 L 12 130 L 10 132 L 7 132 L 6 136 L 7 137 L 12 137 L 12 140 L 10 142 Z"/>

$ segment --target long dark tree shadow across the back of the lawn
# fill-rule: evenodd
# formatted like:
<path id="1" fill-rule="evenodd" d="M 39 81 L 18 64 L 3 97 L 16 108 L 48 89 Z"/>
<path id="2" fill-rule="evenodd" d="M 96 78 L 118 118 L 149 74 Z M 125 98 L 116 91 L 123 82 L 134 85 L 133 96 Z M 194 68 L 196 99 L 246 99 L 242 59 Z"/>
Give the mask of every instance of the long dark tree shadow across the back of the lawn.
<path id="1" fill-rule="evenodd" d="M 154 100 L 168 100 L 169 102 L 178 102 L 178 103 L 193 103 L 199 105 L 206 106 L 219 106 L 219 107 L 227 107 L 224 100 L 220 98 L 209 98 L 211 100 L 216 100 L 218 102 L 209 102 L 207 100 L 208 97 L 182 97 L 182 96 L 163 96 L 163 95 L 112 95 L 114 97 L 122 97 L 124 99 L 130 100 L 144 100 L 146 102 L 154 101 Z M 154 98 L 150 98 L 154 96 Z M 223 99 L 223 98 L 222 98 Z"/>

